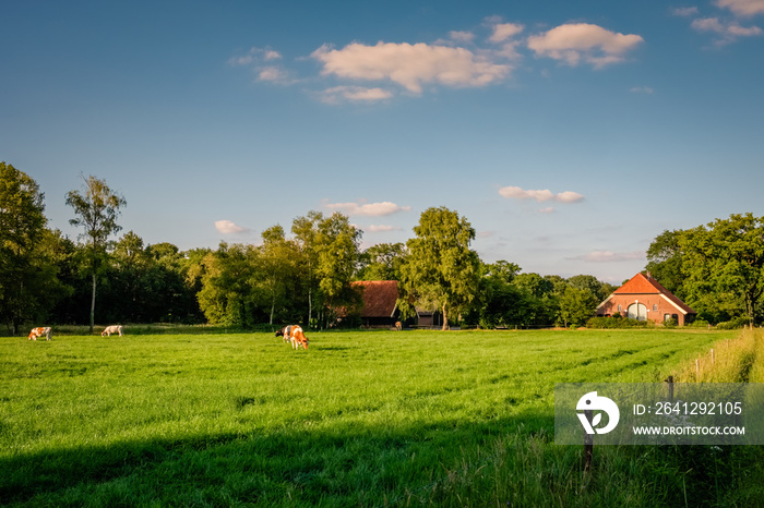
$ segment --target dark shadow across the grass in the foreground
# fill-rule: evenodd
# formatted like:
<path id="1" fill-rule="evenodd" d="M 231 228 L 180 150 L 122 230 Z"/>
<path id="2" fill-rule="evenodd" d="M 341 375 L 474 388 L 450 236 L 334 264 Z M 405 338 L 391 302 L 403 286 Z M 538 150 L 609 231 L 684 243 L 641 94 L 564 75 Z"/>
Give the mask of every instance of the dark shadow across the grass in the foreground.
<path id="1" fill-rule="evenodd" d="M 756 506 L 744 500 L 763 494 L 759 447 L 602 447 L 584 475 L 583 447 L 553 445 L 552 426 L 547 411 L 471 424 L 295 422 L 46 451 L 0 460 L 0 504 Z"/>

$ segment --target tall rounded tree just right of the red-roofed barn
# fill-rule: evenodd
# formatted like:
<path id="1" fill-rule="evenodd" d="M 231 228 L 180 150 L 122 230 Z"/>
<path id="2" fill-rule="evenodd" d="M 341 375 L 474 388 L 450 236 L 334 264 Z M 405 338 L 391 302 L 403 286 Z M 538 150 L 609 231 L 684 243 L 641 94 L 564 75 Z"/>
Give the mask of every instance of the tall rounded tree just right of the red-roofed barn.
<path id="1" fill-rule="evenodd" d="M 406 242 L 408 256 L 401 270 L 401 307 L 410 313 L 411 301 L 449 315 L 474 298 L 479 280 L 479 258 L 469 249 L 475 229 L 466 218 L 445 207 L 422 211 L 416 237 Z"/>

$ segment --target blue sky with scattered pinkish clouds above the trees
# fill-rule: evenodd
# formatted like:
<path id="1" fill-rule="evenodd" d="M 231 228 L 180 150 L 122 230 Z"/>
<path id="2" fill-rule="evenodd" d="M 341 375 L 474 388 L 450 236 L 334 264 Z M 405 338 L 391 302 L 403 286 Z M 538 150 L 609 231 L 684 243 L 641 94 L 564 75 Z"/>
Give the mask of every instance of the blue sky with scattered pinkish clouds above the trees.
<path id="1" fill-rule="evenodd" d="M 764 215 L 764 0 L 35 1 L 0 8 L 0 160 L 106 179 L 123 232 L 363 246 L 446 206 L 487 262 L 619 283 L 650 241 Z"/>

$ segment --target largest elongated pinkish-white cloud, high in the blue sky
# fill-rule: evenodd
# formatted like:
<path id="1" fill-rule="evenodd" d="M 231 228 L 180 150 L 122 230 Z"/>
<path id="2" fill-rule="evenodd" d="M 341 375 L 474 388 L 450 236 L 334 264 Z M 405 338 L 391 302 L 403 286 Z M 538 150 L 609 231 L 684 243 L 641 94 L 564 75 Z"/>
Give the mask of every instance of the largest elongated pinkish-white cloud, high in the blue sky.
<path id="1" fill-rule="evenodd" d="M 311 56 L 323 64 L 323 75 L 392 81 L 414 94 L 420 94 L 426 84 L 484 86 L 503 80 L 511 71 L 510 65 L 494 63 L 465 48 L 421 43 L 378 43 L 377 46 L 354 43 L 343 49 L 324 45 Z"/>

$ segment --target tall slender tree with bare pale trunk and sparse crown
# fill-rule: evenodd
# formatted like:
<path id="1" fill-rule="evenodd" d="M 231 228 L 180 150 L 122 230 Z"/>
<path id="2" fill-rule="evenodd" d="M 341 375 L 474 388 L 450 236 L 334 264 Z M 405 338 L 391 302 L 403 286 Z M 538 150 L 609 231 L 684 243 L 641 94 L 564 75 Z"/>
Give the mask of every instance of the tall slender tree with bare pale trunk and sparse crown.
<path id="1" fill-rule="evenodd" d="M 87 239 L 89 273 L 93 281 L 91 298 L 91 332 L 95 323 L 96 279 L 98 270 L 106 256 L 106 242 L 109 237 L 122 228 L 117 225 L 119 209 L 127 205 L 124 197 L 114 192 L 106 180 L 89 176 L 83 177 L 85 185 L 83 193 L 70 191 L 67 193 L 67 205 L 74 208 L 75 218 L 69 223 L 84 228 Z"/>

